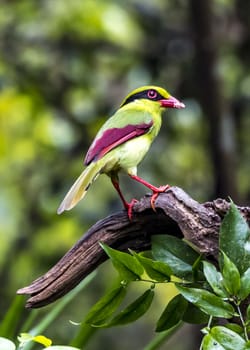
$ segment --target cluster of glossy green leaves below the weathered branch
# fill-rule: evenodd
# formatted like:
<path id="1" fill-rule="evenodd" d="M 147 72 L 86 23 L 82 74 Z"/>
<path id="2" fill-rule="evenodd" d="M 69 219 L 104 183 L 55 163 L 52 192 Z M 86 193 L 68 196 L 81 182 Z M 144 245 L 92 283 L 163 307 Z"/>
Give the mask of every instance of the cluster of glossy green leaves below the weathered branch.
<path id="1" fill-rule="evenodd" d="M 183 322 L 206 325 L 201 349 L 250 348 L 250 306 L 245 306 L 250 295 L 250 230 L 233 203 L 220 229 L 218 266 L 188 242 L 169 235 L 153 237 L 150 256 L 101 245 L 119 273 L 120 284 L 91 308 L 87 324 L 113 327 L 134 322 L 150 308 L 157 285 L 173 283 L 177 294 L 160 315 L 156 332 Z M 123 307 L 133 282 L 148 282 L 149 287 Z"/>

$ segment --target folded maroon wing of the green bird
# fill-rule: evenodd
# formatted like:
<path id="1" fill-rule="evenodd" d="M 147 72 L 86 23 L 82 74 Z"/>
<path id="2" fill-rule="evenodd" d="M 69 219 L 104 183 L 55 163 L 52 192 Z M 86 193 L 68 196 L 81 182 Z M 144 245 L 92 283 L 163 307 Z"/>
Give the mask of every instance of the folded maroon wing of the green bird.
<path id="1" fill-rule="evenodd" d="M 123 128 L 112 128 L 105 130 L 102 136 L 95 139 L 86 154 L 84 164 L 88 165 L 93 161 L 97 161 L 106 153 L 131 140 L 134 137 L 146 134 L 153 125 L 153 121 L 148 124 L 126 125 Z"/>

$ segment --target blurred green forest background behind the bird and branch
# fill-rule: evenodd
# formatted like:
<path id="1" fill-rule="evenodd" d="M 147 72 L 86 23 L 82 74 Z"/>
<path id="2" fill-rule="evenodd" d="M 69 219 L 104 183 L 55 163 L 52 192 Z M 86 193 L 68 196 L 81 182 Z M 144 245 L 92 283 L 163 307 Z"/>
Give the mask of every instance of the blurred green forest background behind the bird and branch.
<path id="1" fill-rule="evenodd" d="M 249 62 L 245 0 L 0 1 L 1 318 L 18 288 L 122 208 L 102 176 L 73 211 L 56 214 L 98 128 L 138 86 L 160 85 L 186 104 L 164 116 L 138 174 L 201 202 L 249 203 Z M 128 200 L 147 192 L 126 177 L 121 186 Z M 46 335 L 67 344 L 77 331 L 69 320 L 81 321 L 115 278 L 105 263 Z M 159 291 L 153 312 L 97 332 L 87 349 L 142 349 L 168 297 Z M 172 349 L 195 348 L 183 332 L 190 342 L 177 337 Z"/>

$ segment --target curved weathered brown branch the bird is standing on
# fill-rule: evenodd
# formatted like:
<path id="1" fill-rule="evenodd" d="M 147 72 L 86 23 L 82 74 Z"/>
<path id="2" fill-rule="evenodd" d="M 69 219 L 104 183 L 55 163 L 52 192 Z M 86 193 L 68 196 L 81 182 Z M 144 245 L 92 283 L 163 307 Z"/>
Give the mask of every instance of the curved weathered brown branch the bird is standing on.
<path id="1" fill-rule="evenodd" d="M 18 294 L 31 295 L 26 306 L 38 308 L 57 300 L 107 260 L 99 242 L 121 251 L 144 251 L 150 249 L 152 235 L 171 234 L 185 237 L 204 255 L 217 258 L 227 201 L 199 204 L 182 189 L 171 187 L 158 196 L 155 207 L 156 212 L 151 209 L 150 197 L 145 196 L 134 206 L 132 221 L 125 211 L 98 221 L 44 276 L 18 290 Z M 250 222 L 250 208 L 239 209 Z"/>

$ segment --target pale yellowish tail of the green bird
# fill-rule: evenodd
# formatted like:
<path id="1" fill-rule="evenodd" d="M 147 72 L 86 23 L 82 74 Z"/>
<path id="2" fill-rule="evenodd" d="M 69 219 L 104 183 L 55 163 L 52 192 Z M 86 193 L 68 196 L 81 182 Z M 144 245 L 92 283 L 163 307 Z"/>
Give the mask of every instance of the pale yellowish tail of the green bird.
<path id="1" fill-rule="evenodd" d="M 64 210 L 72 209 L 85 196 L 90 185 L 100 175 L 104 166 L 105 162 L 99 160 L 98 162 L 91 163 L 86 169 L 84 169 L 64 197 L 62 203 L 57 209 L 57 214 L 61 214 Z"/>

